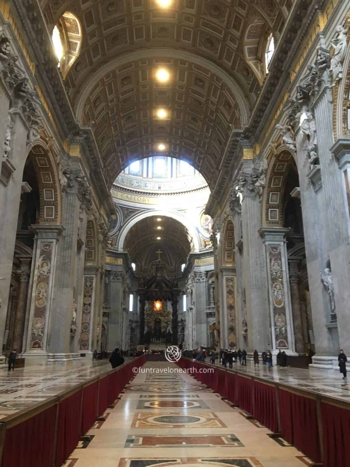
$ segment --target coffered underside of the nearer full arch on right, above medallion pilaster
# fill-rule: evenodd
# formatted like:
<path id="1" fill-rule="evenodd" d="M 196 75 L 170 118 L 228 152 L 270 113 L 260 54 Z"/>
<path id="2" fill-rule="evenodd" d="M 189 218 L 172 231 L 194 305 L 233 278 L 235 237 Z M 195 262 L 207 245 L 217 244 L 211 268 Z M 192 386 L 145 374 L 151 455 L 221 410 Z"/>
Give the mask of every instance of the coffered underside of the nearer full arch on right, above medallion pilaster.
<path id="1" fill-rule="evenodd" d="M 283 227 L 283 195 L 294 155 L 285 146 L 271 157 L 262 199 L 262 226 Z"/>

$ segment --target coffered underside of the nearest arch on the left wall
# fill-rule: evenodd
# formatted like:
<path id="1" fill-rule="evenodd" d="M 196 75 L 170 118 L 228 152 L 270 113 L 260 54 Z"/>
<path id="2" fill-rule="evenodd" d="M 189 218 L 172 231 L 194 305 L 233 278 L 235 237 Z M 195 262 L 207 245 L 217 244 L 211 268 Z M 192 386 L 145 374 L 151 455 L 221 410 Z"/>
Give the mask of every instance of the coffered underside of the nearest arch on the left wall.
<path id="1" fill-rule="evenodd" d="M 43 142 L 37 142 L 28 158 L 34 165 L 39 185 L 40 212 L 38 224 L 60 224 L 62 218 L 62 193 L 56 162 Z"/>

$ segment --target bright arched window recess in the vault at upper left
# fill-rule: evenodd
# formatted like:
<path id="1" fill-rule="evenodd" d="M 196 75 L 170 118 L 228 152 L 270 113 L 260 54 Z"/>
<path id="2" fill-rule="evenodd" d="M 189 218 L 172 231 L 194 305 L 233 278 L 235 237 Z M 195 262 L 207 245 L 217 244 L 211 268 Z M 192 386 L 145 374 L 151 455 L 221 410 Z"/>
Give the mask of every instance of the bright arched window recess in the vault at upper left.
<path id="1" fill-rule="evenodd" d="M 80 21 L 74 14 L 66 11 L 52 31 L 52 42 L 63 78 L 67 76 L 80 53 L 82 39 Z"/>

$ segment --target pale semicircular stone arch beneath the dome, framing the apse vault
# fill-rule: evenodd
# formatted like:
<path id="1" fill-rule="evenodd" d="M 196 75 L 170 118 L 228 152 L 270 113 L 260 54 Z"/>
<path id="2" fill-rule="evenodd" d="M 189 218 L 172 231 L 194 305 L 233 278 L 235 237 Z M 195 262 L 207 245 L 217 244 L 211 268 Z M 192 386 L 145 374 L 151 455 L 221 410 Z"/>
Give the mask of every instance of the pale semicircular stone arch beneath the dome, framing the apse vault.
<path id="1" fill-rule="evenodd" d="M 132 226 L 134 226 L 137 222 L 139 222 L 142 219 L 145 219 L 147 217 L 153 217 L 153 216 L 164 216 L 164 217 L 171 217 L 172 219 L 175 219 L 179 221 L 183 226 L 187 228 L 189 231 L 189 234 L 192 237 L 193 240 L 193 245 L 194 245 L 194 251 L 198 252 L 200 249 L 200 238 L 198 233 L 196 232 L 196 228 L 191 224 L 191 222 L 183 216 L 179 212 L 175 211 L 162 211 L 162 210 L 149 210 L 146 212 L 139 212 L 135 216 L 133 216 L 131 219 L 128 219 L 126 224 L 121 228 L 119 237 L 116 241 L 116 247 L 118 251 L 123 251 L 123 246 L 124 246 L 124 241 L 126 238 L 126 234 L 129 232 Z"/>

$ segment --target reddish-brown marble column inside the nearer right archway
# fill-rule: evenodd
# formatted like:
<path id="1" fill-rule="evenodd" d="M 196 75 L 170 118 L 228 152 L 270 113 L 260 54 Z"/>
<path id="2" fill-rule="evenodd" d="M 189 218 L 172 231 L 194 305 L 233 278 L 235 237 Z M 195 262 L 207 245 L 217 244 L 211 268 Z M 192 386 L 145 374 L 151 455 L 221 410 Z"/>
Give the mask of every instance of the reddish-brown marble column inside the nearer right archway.
<path id="1" fill-rule="evenodd" d="M 293 313 L 295 352 L 297 354 L 305 354 L 304 325 L 299 296 L 300 274 L 298 271 L 298 262 L 299 260 L 289 261 L 289 284 Z"/>

